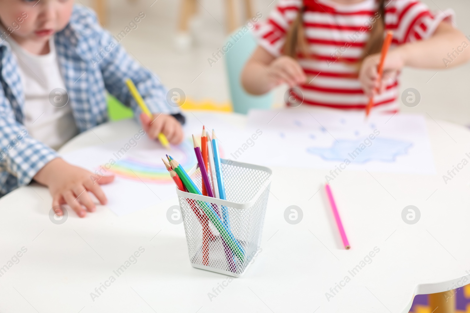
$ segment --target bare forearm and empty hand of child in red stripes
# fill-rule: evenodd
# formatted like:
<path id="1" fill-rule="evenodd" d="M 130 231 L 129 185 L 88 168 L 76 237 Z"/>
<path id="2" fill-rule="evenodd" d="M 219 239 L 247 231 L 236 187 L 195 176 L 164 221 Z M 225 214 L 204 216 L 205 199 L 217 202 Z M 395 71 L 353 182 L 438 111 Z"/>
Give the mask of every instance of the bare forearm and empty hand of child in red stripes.
<path id="1" fill-rule="evenodd" d="M 294 87 L 305 83 L 306 76 L 296 60 L 286 55 L 276 58 L 258 46 L 245 64 L 241 79 L 247 92 L 263 94 L 279 84 Z"/>

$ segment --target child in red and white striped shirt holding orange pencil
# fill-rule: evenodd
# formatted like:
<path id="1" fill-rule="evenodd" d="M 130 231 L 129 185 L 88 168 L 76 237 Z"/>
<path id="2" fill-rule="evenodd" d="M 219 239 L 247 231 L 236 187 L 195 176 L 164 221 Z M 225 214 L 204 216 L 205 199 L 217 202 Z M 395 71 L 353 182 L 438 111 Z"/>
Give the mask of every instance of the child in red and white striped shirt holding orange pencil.
<path id="1" fill-rule="evenodd" d="M 378 82 L 385 31 L 393 40 Z M 402 67 L 441 69 L 470 58 L 454 11 L 434 14 L 416 0 L 279 0 L 254 34 L 258 47 L 242 73 L 247 92 L 285 83 L 304 104 L 337 109 L 364 109 L 373 96 L 373 110 L 397 112 Z"/>

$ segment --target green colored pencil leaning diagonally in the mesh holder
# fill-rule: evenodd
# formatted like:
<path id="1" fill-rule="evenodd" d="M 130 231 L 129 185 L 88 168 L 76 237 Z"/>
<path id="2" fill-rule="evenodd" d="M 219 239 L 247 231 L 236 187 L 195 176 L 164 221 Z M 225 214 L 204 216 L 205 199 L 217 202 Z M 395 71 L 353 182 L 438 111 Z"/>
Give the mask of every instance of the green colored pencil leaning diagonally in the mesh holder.
<path id="1" fill-rule="evenodd" d="M 202 195 L 201 191 L 199 191 L 196 184 L 192 183 L 191 178 L 188 178 L 189 177 L 188 173 L 183 174 L 185 170 L 180 167 L 180 165 L 178 164 L 176 160 L 171 160 L 170 165 L 175 170 L 176 174 L 180 176 L 181 181 L 183 182 L 185 187 L 188 189 L 188 192 Z M 231 254 L 233 251 L 235 255 L 238 257 L 238 259 L 241 262 L 243 262 L 245 252 L 243 250 L 242 245 L 235 239 L 230 229 L 227 229 L 223 221 L 220 219 L 219 215 L 214 211 L 214 209 L 209 203 L 201 201 L 201 200 L 196 200 L 196 203 L 204 211 L 204 214 L 207 215 L 207 217 L 215 226 L 215 228 L 219 231 L 220 237 L 222 237 L 222 244 L 224 245 L 224 250 L 227 255 L 229 268 L 230 270 L 235 271 L 235 265 L 231 264 L 231 260 L 233 260 L 233 257 L 231 257 Z"/>

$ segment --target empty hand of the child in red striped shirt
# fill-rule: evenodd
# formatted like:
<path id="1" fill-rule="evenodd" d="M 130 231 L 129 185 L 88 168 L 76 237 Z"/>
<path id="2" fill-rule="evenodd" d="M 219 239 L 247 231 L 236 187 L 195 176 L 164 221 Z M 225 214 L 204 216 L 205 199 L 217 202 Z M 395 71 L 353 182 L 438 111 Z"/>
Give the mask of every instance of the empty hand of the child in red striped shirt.
<path id="1" fill-rule="evenodd" d="M 288 84 L 292 88 L 298 84 L 305 83 L 307 80 L 307 76 L 300 64 L 298 64 L 298 61 L 287 55 L 280 56 L 272 61 L 266 70 L 272 80 L 271 84 L 273 85 L 270 86 L 271 88 L 283 83 Z"/>

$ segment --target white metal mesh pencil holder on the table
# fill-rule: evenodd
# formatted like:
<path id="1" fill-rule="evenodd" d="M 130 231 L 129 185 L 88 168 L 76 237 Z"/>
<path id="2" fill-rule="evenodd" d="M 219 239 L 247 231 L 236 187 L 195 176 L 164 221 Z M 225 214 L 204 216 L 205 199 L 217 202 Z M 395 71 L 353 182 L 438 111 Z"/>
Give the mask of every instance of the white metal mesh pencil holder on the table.
<path id="1" fill-rule="evenodd" d="M 221 170 L 227 200 L 178 189 L 176 192 L 191 265 L 240 276 L 261 243 L 272 171 L 224 159 Z M 188 175 L 201 190 L 199 167 L 192 168 Z"/>

